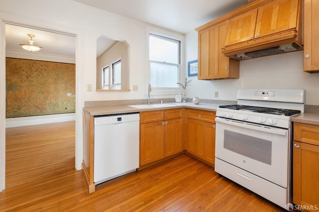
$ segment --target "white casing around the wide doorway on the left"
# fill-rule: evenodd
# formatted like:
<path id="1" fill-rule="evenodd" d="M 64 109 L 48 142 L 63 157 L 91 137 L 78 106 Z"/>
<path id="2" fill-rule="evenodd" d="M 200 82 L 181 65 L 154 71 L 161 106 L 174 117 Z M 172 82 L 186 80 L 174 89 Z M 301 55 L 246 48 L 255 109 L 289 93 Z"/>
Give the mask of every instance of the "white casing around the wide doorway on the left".
<path id="1" fill-rule="evenodd" d="M 76 78 L 76 117 L 75 117 L 75 168 L 82 169 L 83 160 L 83 129 L 82 129 L 82 111 L 84 107 L 84 76 L 85 76 L 85 31 L 72 26 L 62 26 L 52 22 L 27 18 L 11 13 L 0 11 L 0 191 L 5 188 L 5 24 L 20 24 L 26 27 L 37 27 L 40 30 L 49 30 L 64 32 L 76 37 L 75 53 L 75 78 Z"/>

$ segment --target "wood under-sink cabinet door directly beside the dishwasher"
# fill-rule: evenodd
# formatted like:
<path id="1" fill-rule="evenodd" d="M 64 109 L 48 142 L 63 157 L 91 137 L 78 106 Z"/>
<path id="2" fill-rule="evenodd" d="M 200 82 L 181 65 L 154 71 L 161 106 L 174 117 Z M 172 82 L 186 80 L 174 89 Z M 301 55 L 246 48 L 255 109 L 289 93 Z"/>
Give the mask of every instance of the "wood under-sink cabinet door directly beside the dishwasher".
<path id="1" fill-rule="evenodd" d="M 164 157 L 164 122 L 140 125 L 140 165 Z"/>

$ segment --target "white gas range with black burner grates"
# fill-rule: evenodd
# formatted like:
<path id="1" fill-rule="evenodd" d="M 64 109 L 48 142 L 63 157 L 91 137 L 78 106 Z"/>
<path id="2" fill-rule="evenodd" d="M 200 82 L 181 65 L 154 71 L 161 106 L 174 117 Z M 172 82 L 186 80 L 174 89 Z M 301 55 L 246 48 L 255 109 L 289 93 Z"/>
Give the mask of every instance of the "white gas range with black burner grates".
<path id="1" fill-rule="evenodd" d="M 289 210 L 291 116 L 304 112 L 301 89 L 240 89 L 238 105 L 216 110 L 215 171 Z"/>

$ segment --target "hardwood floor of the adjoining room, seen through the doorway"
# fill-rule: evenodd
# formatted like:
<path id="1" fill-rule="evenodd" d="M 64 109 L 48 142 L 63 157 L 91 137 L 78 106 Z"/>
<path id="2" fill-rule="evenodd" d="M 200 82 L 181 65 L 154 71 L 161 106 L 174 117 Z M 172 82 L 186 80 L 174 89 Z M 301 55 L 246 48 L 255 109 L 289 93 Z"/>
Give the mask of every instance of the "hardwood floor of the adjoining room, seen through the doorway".
<path id="1" fill-rule="evenodd" d="M 75 169 L 75 122 L 7 128 L 5 187 Z"/>

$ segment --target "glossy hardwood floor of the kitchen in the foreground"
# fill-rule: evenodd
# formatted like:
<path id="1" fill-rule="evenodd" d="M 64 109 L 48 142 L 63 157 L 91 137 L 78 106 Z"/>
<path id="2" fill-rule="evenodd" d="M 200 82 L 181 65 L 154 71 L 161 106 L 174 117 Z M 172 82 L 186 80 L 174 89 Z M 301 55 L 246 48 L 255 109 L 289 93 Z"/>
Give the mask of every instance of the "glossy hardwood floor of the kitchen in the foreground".
<path id="1" fill-rule="evenodd" d="M 52 151 L 59 157 L 59 152 Z M 33 155 L 36 152 L 29 153 Z M 183 154 L 160 165 L 99 184 L 92 194 L 86 190 L 82 171 L 59 171 L 55 175 L 5 189 L 0 193 L 0 211 L 284 210 L 219 176 L 212 167 Z"/>

